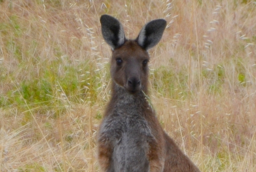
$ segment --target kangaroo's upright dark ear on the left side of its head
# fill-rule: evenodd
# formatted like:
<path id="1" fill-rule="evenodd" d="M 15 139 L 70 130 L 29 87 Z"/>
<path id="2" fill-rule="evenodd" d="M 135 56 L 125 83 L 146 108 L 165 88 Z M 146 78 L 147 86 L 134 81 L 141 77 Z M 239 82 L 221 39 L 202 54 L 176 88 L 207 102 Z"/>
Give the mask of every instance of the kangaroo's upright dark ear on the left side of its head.
<path id="1" fill-rule="evenodd" d="M 102 35 L 104 40 L 111 46 L 112 50 L 125 43 L 125 32 L 122 24 L 110 15 L 100 17 Z"/>

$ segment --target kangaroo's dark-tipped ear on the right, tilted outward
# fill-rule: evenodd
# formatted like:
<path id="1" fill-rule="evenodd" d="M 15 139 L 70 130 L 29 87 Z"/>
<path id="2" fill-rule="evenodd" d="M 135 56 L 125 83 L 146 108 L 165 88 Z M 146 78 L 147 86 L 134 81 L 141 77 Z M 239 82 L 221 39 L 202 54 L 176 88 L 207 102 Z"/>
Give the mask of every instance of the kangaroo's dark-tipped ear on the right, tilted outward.
<path id="1" fill-rule="evenodd" d="M 165 28 L 166 20 L 152 20 L 143 26 L 136 41 L 143 49 L 151 49 L 161 40 Z"/>

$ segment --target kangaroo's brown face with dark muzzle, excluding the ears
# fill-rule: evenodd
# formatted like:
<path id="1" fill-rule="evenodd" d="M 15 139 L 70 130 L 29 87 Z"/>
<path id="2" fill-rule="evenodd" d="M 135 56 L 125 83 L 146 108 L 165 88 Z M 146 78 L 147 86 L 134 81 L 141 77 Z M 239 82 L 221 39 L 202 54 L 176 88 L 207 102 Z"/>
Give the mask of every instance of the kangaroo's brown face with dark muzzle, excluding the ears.
<path id="1" fill-rule="evenodd" d="M 148 53 L 136 41 L 128 40 L 113 51 L 111 77 L 128 92 L 139 92 L 147 84 L 148 61 Z"/>

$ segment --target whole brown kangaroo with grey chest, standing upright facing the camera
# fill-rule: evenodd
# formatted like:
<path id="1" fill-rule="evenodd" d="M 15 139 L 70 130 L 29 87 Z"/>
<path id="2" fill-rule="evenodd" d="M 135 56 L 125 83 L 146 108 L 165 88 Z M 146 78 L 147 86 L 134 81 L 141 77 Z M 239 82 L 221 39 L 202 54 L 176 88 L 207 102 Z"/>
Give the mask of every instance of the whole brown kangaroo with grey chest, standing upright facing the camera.
<path id="1" fill-rule="evenodd" d="M 111 46 L 111 100 L 97 135 L 104 172 L 200 172 L 160 126 L 148 103 L 148 49 L 157 45 L 166 20 L 145 24 L 135 40 L 125 38 L 114 17 L 100 18 Z"/>

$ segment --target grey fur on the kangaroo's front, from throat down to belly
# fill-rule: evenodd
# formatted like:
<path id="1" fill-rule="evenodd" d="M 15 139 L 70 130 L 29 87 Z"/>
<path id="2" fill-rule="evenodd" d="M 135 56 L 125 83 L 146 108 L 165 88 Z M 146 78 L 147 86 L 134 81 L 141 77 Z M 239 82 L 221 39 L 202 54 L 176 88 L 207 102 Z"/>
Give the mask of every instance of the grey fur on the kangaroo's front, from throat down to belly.
<path id="1" fill-rule="evenodd" d="M 137 171 L 147 169 L 148 151 L 154 136 L 145 120 L 143 94 L 119 94 L 110 114 L 103 120 L 99 131 L 106 144 L 112 147 L 114 171 Z M 144 97 L 141 99 L 141 97 Z M 144 166 L 142 168 L 142 166 Z M 146 168 L 145 168 L 146 167 Z"/>

